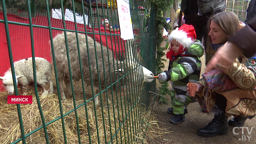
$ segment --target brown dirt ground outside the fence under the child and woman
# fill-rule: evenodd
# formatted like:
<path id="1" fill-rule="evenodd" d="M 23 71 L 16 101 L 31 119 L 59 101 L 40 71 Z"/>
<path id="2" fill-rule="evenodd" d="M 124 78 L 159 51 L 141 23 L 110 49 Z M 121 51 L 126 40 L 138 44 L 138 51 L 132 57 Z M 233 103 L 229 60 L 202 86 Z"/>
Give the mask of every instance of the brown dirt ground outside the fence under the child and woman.
<path id="1" fill-rule="evenodd" d="M 164 45 L 164 44 L 163 44 Z M 164 50 L 166 53 L 168 50 Z M 163 58 L 166 58 L 165 56 Z M 205 55 L 201 58 L 202 60 L 202 70 L 201 73 L 205 70 Z M 164 62 L 165 68 L 163 70 L 167 70 L 169 61 L 167 60 Z M 157 85 L 159 86 L 158 80 Z M 170 84 L 171 85 L 171 84 Z M 171 86 L 170 86 L 171 88 Z M 234 129 L 235 133 L 233 133 L 233 127 L 229 126 L 228 128 L 228 135 L 217 135 L 213 138 L 204 138 L 198 136 L 196 134 L 196 130 L 198 128 L 202 128 L 207 125 L 213 118 L 213 114 L 207 114 L 202 112 L 199 104 L 197 102 L 190 103 L 188 105 L 188 114 L 185 116 L 185 121 L 180 124 L 171 124 L 169 119 L 172 115 L 166 112 L 167 108 L 171 107 L 171 98 L 167 94 L 168 105 L 159 104 L 158 100 L 155 102 L 155 106 L 153 109 L 153 114 L 156 116 L 156 121 L 158 123 L 159 130 L 159 137 L 156 139 L 152 138 L 149 140 L 152 144 L 253 144 L 256 143 L 256 118 L 252 120 L 247 119 L 244 124 L 244 135 L 245 139 L 242 139 L 242 128 Z M 232 119 L 229 117 L 229 119 Z M 248 127 L 249 131 L 252 128 L 252 133 L 248 134 L 246 131 L 246 127 Z M 251 137 L 250 137 L 251 135 Z M 248 137 L 250 137 L 250 141 Z M 243 141 L 242 141 L 243 140 Z"/>

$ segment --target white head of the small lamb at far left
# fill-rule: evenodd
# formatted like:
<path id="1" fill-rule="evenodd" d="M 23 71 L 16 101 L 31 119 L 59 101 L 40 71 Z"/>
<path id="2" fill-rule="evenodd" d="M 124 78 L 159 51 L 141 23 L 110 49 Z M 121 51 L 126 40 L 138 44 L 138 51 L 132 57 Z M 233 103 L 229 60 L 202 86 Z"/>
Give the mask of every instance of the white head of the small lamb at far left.
<path id="1" fill-rule="evenodd" d="M 16 84 L 18 84 L 18 79 L 21 78 L 21 77 L 22 76 L 16 76 Z M 13 94 L 14 86 L 13 86 L 13 81 L 12 81 L 12 75 L 0 76 L 0 80 L 3 81 L 4 89 L 9 94 Z"/>

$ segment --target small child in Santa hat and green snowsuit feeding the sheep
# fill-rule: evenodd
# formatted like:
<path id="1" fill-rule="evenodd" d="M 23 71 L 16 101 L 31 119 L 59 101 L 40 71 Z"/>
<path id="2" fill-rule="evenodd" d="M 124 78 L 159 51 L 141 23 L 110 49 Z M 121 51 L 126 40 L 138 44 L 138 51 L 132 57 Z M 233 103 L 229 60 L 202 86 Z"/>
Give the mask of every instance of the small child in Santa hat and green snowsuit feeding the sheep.
<path id="1" fill-rule="evenodd" d="M 166 53 L 169 61 L 168 70 L 158 75 L 160 81 L 171 81 L 171 106 L 167 112 L 174 114 L 170 119 L 172 124 L 185 121 L 188 113 L 187 105 L 193 97 L 186 94 L 188 82 L 199 80 L 201 72 L 201 60 L 204 48 L 199 40 L 196 40 L 196 32 L 192 25 L 182 25 L 175 29 L 169 36 L 171 49 Z"/>

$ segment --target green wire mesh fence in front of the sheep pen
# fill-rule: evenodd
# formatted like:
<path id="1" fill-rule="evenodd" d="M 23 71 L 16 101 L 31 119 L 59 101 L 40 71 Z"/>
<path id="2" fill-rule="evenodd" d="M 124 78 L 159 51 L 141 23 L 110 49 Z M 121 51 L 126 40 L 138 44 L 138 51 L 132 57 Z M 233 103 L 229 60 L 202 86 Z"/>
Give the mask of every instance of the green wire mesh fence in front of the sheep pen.
<path id="1" fill-rule="evenodd" d="M 13 62 L 32 57 L 33 71 L 25 71 L 36 83 L 36 70 L 46 67 L 35 57 L 44 58 L 52 64 L 53 93 L 43 95 L 45 87 L 31 83 L 25 94 L 33 103 L 15 105 L 7 104 L 2 88 L 0 143 L 141 143 L 156 99 L 150 93 L 156 91 L 156 33 L 149 1 L 130 1 L 130 40 L 120 37 L 114 0 L 15 2 L 1 1 L 6 63 L 0 74 L 11 67 L 15 95 L 21 95 Z"/>

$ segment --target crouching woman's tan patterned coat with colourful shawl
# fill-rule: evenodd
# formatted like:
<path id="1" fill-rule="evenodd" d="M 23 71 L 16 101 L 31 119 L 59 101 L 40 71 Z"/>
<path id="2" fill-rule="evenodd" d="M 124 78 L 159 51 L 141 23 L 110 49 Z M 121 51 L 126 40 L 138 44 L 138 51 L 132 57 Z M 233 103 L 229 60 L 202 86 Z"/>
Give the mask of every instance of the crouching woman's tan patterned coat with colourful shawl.
<path id="1" fill-rule="evenodd" d="M 243 56 L 241 63 L 236 59 L 226 72 L 228 75 L 220 69 L 220 73 L 212 73 L 218 69 L 207 73 L 212 73 L 212 76 L 204 77 L 203 74 L 203 78 L 196 82 L 204 87 L 203 91 L 196 93 L 196 100 L 201 108 L 208 113 L 211 112 L 216 103 L 215 93 L 219 93 L 227 99 L 226 113 L 229 116 L 245 117 L 256 114 L 255 59 L 256 57 Z"/>

